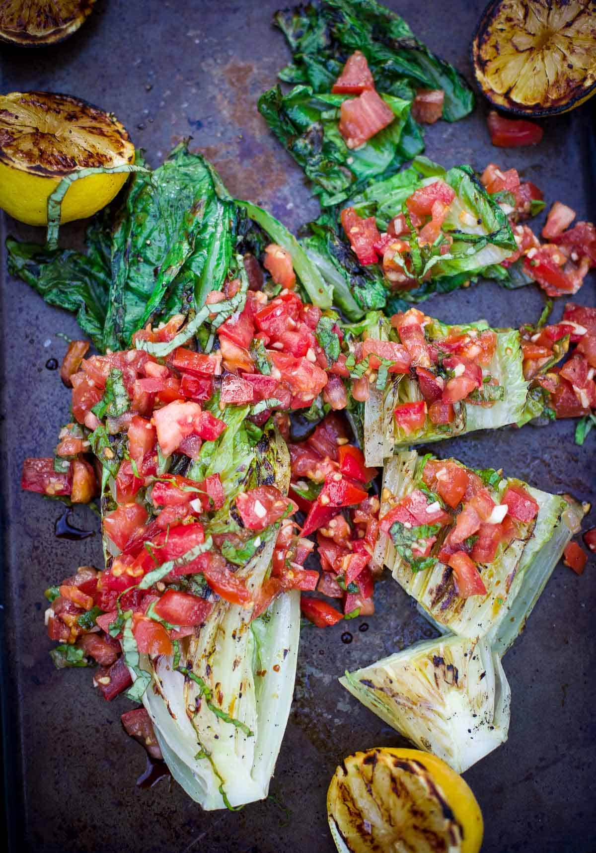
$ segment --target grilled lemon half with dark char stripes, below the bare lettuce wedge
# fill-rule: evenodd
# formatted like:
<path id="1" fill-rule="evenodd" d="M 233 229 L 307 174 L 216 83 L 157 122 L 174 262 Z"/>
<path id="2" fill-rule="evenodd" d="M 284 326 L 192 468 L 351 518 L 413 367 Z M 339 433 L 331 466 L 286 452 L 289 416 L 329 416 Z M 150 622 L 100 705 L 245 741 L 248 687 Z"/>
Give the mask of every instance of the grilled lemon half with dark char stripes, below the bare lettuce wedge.
<path id="1" fill-rule="evenodd" d="M 470 788 L 441 758 L 391 747 L 350 755 L 327 792 L 339 853 L 478 853 L 483 819 Z"/>

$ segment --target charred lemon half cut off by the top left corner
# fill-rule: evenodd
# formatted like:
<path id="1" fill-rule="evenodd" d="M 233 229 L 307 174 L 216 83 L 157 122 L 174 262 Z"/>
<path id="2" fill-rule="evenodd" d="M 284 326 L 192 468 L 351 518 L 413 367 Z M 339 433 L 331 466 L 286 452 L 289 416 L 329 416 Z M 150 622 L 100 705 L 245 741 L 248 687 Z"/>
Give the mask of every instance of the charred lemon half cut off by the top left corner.
<path id="1" fill-rule="evenodd" d="M 78 30 L 95 0 L 0 0 L 0 39 L 34 47 L 56 44 Z"/>

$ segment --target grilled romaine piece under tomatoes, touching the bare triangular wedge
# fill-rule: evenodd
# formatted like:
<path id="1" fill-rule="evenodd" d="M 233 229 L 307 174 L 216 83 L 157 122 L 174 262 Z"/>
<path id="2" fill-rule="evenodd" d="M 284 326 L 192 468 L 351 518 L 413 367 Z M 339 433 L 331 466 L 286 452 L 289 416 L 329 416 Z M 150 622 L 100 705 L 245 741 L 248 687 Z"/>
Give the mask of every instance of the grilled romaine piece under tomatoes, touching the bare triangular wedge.
<path id="1" fill-rule="evenodd" d="M 415 450 L 402 451 L 388 462 L 381 518 L 391 503 L 418 487 L 429 456 L 420 457 Z M 565 545 L 579 529 L 583 515 L 582 507 L 575 502 L 505 477 L 491 487 L 496 503 L 512 483 L 523 485 L 538 503 L 539 511 L 532 522 L 518 525 L 518 537 L 508 544 L 501 543 L 495 560 L 480 566 L 486 595 L 461 598 L 455 589 L 452 570 L 439 560 L 431 568 L 413 571 L 388 537 L 379 537 L 374 554 L 377 565 L 385 564 L 391 569 L 397 583 L 412 595 L 433 624 L 472 640 L 487 637 L 500 654 L 506 652 L 523 630 Z M 431 554 L 439 549 L 440 541 Z"/>

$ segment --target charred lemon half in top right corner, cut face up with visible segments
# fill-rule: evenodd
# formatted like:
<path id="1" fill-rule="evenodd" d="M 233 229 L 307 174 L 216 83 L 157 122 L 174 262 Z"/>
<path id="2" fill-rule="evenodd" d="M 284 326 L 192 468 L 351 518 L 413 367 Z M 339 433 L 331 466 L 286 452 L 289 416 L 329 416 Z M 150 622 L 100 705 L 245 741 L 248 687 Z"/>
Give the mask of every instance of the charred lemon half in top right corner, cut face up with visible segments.
<path id="1" fill-rule="evenodd" d="M 531 116 L 573 109 L 596 91 L 596 3 L 490 3 L 472 42 L 472 60 L 496 107 Z"/>

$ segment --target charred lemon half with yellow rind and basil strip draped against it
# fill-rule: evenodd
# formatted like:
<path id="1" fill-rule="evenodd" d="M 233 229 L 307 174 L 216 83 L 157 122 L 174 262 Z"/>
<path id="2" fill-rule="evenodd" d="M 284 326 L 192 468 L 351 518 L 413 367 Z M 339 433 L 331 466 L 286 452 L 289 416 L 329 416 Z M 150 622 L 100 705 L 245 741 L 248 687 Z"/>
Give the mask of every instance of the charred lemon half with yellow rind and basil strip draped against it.
<path id="1" fill-rule="evenodd" d="M 69 95 L 0 95 L 0 207 L 29 225 L 48 223 L 48 197 L 63 177 L 86 168 L 130 165 L 135 147 L 112 115 Z M 61 222 L 105 207 L 126 173 L 82 177 L 68 188 Z"/>

